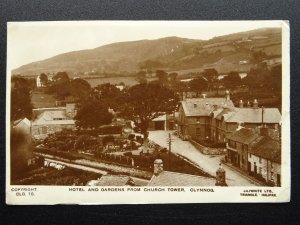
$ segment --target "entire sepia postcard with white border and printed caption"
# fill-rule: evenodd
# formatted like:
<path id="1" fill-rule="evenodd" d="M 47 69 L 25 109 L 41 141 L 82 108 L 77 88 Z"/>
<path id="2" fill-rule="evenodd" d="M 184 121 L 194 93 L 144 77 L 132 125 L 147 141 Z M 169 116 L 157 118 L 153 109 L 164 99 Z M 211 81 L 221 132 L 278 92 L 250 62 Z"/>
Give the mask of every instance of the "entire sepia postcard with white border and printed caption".
<path id="1" fill-rule="evenodd" d="M 287 21 L 7 33 L 8 203 L 289 200 Z"/>

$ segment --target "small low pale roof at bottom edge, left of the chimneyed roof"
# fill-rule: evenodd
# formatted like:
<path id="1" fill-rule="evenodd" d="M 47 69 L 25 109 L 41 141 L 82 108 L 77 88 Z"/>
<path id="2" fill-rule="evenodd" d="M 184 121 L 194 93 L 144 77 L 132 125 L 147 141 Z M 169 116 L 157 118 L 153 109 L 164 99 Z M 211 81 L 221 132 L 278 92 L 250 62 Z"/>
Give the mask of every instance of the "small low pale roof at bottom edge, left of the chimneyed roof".
<path id="1" fill-rule="evenodd" d="M 92 186 L 126 186 L 131 182 L 132 179 L 129 176 L 107 174 L 97 181 L 89 181 L 88 184 Z"/>

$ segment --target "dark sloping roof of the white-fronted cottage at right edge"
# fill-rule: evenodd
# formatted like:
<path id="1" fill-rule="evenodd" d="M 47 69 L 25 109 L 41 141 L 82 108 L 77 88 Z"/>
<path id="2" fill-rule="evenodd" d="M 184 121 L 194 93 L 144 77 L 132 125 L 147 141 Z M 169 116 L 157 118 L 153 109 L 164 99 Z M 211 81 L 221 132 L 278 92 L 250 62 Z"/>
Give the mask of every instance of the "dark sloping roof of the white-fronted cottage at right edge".
<path id="1" fill-rule="evenodd" d="M 281 163 L 281 145 L 278 140 L 269 136 L 261 136 L 257 142 L 249 149 L 253 155 L 269 159 L 273 162 Z"/>

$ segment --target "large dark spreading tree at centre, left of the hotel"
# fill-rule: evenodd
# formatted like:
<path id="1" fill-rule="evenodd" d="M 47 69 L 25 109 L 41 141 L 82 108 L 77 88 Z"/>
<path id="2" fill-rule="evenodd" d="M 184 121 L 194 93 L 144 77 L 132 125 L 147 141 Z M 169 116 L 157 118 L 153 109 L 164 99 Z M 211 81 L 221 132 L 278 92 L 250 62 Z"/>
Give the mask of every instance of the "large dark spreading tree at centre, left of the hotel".
<path id="1" fill-rule="evenodd" d="M 174 92 L 160 84 L 138 84 L 126 93 L 121 114 L 133 120 L 146 135 L 149 122 L 164 113 L 173 112 L 177 103 Z"/>

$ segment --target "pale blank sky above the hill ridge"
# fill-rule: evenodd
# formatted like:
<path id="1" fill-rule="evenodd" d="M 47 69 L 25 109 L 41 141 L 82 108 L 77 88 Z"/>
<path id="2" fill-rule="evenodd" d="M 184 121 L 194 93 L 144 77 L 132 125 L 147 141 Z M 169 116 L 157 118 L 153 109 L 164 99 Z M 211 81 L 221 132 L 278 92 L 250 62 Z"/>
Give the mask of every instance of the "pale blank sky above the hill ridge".
<path id="1" fill-rule="evenodd" d="M 9 22 L 7 68 L 55 55 L 102 45 L 168 36 L 208 40 L 264 27 L 281 27 L 282 21 L 69 21 Z"/>

